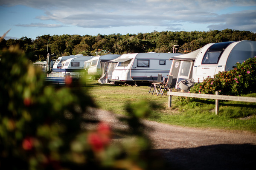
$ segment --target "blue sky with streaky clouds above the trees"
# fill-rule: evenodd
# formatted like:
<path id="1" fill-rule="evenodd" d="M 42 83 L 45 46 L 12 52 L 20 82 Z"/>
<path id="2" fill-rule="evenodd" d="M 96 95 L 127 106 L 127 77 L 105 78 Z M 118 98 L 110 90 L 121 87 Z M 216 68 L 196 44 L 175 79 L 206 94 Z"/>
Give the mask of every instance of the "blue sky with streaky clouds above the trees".
<path id="1" fill-rule="evenodd" d="M 0 36 L 256 32 L 256 0 L 1 0 Z"/>

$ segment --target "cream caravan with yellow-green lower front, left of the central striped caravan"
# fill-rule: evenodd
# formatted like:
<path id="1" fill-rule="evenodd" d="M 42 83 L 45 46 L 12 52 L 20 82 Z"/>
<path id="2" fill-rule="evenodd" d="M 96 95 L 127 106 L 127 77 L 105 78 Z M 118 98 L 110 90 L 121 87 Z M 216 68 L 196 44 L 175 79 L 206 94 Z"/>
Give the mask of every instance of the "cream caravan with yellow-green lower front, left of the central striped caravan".
<path id="1" fill-rule="evenodd" d="M 85 70 L 87 70 L 87 73 L 89 75 L 102 75 L 102 71 L 105 72 L 106 70 L 104 68 L 104 62 L 108 62 L 112 59 L 116 59 L 120 55 L 118 54 L 107 54 L 103 56 L 96 56 L 93 57 L 93 59 L 88 60 L 84 63 Z M 103 73 L 104 74 L 104 73 Z"/>

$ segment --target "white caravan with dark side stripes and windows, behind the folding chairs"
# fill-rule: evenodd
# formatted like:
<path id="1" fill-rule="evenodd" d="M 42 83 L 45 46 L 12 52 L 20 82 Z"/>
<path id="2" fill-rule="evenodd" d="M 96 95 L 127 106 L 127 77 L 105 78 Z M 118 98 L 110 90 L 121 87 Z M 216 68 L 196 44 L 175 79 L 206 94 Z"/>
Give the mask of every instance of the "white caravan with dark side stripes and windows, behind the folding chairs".
<path id="1" fill-rule="evenodd" d="M 157 74 L 168 76 L 172 61 L 178 53 L 133 53 L 122 54 L 111 60 L 117 62 L 112 72 L 112 82 L 149 82 L 156 81 Z"/>

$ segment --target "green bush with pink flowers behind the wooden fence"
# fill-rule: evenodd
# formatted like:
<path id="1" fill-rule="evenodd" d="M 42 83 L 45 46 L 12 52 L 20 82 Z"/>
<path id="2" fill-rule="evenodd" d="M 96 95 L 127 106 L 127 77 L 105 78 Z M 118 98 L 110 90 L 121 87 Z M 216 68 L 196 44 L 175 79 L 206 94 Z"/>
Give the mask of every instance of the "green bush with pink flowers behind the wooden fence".
<path id="1" fill-rule="evenodd" d="M 256 57 L 243 63 L 236 63 L 236 68 L 219 72 L 214 77 L 207 77 L 203 82 L 195 84 L 191 93 L 241 96 L 256 92 Z"/>

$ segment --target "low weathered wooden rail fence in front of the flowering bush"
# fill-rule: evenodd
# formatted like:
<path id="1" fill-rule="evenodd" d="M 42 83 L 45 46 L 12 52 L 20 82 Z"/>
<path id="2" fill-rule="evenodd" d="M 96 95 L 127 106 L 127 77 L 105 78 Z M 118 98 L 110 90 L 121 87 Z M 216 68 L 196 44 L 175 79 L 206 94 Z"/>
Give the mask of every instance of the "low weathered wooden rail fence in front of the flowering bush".
<path id="1" fill-rule="evenodd" d="M 194 93 L 182 93 L 182 92 L 168 91 L 167 95 L 169 95 L 169 105 L 168 105 L 169 108 L 172 107 L 172 96 L 215 99 L 215 114 L 218 114 L 219 100 L 232 100 L 232 101 L 239 101 L 239 102 L 256 102 L 256 97 L 225 96 L 225 95 L 219 95 L 218 91 L 216 91 L 215 95 L 214 94 L 194 94 Z"/>

